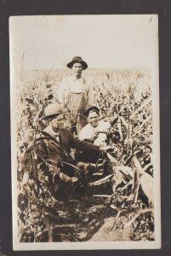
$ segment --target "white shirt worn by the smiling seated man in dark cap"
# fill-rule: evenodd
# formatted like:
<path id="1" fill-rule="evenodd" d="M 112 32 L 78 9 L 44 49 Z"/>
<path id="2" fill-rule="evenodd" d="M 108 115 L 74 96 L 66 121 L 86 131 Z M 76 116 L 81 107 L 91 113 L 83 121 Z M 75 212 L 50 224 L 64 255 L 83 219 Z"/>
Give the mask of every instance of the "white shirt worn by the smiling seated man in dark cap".
<path id="1" fill-rule="evenodd" d="M 79 134 L 79 139 L 80 140 L 84 140 L 84 139 L 90 139 L 93 135 L 95 131 L 105 131 L 107 129 L 110 128 L 110 123 L 105 122 L 103 120 L 99 121 L 99 125 L 97 125 L 96 127 L 92 127 L 90 124 L 85 125 L 82 129 L 82 131 L 80 131 Z M 94 140 L 94 144 L 97 146 L 101 146 L 106 139 L 106 134 L 100 132 L 98 134 L 98 137 Z"/>

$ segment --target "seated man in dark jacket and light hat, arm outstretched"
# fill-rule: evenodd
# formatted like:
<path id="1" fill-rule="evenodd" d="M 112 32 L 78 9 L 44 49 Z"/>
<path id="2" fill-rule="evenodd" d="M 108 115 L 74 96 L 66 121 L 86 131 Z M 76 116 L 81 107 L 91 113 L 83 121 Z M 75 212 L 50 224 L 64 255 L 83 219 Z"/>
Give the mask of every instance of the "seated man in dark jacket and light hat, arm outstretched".
<path id="1" fill-rule="evenodd" d="M 67 183 L 72 188 L 75 188 L 77 177 L 80 177 L 81 172 L 92 172 L 90 164 L 85 164 L 84 166 L 82 163 L 76 168 L 73 167 L 74 163 L 70 155 L 71 148 L 95 155 L 99 155 L 103 148 L 73 137 L 70 131 L 64 128 L 64 116 L 59 105 L 48 105 L 44 113 L 43 119 L 48 121 L 48 126 L 34 142 L 34 151 L 37 154 L 37 161 L 41 166 L 41 171 L 44 172 L 44 175 L 49 176 L 54 184 L 57 183 L 58 195 L 62 195 L 65 194 L 65 189 L 64 186 L 61 186 L 61 183 Z M 48 175 L 50 172 L 53 175 Z M 83 173 L 84 177 L 85 174 Z M 67 191 L 69 189 L 66 189 Z"/>

